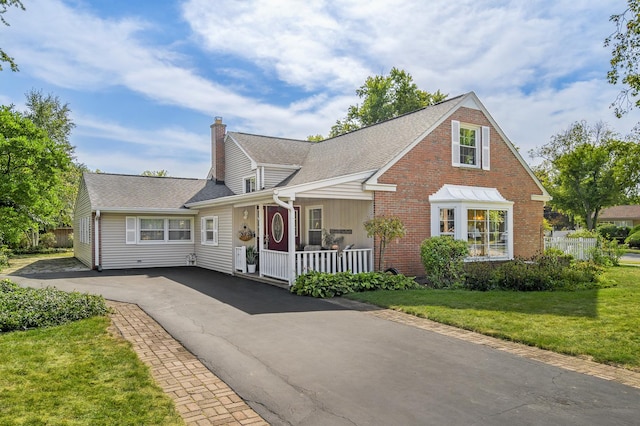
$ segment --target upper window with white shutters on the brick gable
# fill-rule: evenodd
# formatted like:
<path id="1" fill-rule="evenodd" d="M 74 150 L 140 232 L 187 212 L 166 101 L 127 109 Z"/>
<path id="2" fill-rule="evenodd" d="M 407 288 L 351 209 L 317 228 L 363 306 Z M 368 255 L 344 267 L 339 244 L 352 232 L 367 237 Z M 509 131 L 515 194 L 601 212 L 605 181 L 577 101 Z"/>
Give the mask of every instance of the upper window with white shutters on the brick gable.
<path id="1" fill-rule="evenodd" d="M 451 161 L 455 167 L 490 169 L 490 129 L 451 120 Z"/>

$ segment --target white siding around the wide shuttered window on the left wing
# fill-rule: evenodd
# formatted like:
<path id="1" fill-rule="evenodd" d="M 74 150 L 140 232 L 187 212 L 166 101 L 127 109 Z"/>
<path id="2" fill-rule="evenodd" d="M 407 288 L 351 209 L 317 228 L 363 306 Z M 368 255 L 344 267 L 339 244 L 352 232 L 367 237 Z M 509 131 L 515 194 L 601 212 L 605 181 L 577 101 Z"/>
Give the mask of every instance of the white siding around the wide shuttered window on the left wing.
<path id="1" fill-rule="evenodd" d="M 126 244 L 126 216 L 124 214 L 102 213 L 100 217 L 103 269 L 184 266 L 187 264 L 187 256 L 195 252 L 194 242 Z M 145 215 L 145 217 L 149 216 Z M 184 216 L 178 217 L 184 218 Z M 196 220 L 193 217 L 191 219 Z M 195 224 L 195 227 L 198 226 Z M 194 241 L 199 238 L 197 237 L 198 232 L 195 232 Z"/>

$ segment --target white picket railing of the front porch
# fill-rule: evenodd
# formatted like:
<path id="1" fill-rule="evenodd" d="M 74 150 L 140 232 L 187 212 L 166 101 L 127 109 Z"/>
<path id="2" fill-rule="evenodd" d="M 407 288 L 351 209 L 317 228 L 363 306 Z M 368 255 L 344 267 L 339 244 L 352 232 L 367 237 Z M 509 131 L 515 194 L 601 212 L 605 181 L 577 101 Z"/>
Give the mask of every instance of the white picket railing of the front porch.
<path id="1" fill-rule="evenodd" d="M 317 271 L 335 274 L 350 271 L 354 274 L 373 271 L 373 249 L 313 250 L 294 252 L 293 268 L 289 252 L 262 249 L 258 261 L 260 277 L 275 278 L 293 283 L 299 275 Z M 247 273 L 246 247 L 235 248 L 236 271 Z"/>

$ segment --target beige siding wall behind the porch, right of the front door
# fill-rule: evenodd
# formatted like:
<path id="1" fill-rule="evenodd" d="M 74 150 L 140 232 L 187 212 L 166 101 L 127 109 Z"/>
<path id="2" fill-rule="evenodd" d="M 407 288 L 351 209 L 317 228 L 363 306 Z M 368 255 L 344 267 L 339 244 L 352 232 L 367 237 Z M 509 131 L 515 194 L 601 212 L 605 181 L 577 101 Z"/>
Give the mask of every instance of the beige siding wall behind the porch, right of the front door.
<path id="1" fill-rule="evenodd" d="M 347 200 L 316 200 L 316 199 L 297 199 L 296 205 L 300 206 L 300 214 L 302 219 L 300 225 L 302 227 L 301 242 L 306 243 L 308 218 L 307 206 L 322 206 L 322 225 L 329 231 L 330 229 L 350 229 L 351 234 L 336 234 L 336 237 L 344 237 L 342 246 L 347 244 L 355 244 L 356 248 L 373 247 L 373 239 L 367 237 L 364 229 L 364 222 L 372 217 L 373 202 L 372 201 L 347 201 Z"/>

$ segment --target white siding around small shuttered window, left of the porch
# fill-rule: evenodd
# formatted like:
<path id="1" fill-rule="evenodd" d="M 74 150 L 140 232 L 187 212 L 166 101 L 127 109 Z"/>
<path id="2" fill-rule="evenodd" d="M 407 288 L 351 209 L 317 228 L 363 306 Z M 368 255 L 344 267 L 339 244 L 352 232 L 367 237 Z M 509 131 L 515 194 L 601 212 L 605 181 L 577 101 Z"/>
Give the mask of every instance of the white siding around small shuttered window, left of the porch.
<path id="1" fill-rule="evenodd" d="M 218 216 L 218 245 L 200 244 L 200 224 L 202 217 Z M 214 271 L 233 273 L 233 236 L 232 207 L 220 207 L 200 210 L 196 218 L 195 253 L 197 265 Z"/>

